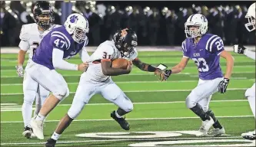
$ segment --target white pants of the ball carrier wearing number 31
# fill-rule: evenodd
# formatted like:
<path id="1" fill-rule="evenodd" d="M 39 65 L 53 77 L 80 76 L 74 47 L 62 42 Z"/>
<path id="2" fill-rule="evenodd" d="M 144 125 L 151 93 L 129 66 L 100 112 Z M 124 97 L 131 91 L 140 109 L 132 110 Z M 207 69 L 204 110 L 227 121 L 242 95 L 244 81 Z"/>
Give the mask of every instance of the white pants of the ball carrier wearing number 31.
<path id="1" fill-rule="evenodd" d="M 68 116 L 75 119 L 84 108 L 85 104 L 89 102 L 91 96 L 100 93 L 106 100 L 115 103 L 118 107 L 130 112 L 133 109 L 133 104 L 128 96 L 111 80 L 98 82 L 91 80 L 88 74 L 82 73 L 78 84 L 78 89 L 75 92 L 72 105 L 68 110 Z"/>

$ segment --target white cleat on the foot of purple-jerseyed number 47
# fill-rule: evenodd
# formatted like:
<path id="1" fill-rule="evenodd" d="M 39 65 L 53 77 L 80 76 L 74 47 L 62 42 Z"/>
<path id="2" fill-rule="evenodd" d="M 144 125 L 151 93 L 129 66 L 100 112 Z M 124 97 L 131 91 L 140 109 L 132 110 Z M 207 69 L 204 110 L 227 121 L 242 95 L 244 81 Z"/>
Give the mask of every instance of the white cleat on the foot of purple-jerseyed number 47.
<path id="1" fill-rule="evenodd" d="M 44 131 L 43 123 L 44 123 L 44 121 L 35 120 L 35 117 L 33 117 L 30 122 L 33 132 L 38 139 L 45 139 L 44 132 L 43 132 Z"/>

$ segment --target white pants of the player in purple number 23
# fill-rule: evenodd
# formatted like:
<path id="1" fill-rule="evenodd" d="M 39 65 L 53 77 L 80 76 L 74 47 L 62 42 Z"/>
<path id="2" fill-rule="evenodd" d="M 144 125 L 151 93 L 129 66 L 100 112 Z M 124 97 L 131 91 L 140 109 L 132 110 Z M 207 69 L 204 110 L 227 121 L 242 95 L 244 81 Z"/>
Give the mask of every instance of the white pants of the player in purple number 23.
<path id="1" fill-rule="evenodd" d="M 209 103 L 212 94 L 218 91 L 218 84 L 223 80 L 223 77 L 214 80 L 198 80 L 198 86 L 191 91 L 186 98 L 186 106 L 190 109 L 199 103 L 206 113 L 209 109 Z"/>

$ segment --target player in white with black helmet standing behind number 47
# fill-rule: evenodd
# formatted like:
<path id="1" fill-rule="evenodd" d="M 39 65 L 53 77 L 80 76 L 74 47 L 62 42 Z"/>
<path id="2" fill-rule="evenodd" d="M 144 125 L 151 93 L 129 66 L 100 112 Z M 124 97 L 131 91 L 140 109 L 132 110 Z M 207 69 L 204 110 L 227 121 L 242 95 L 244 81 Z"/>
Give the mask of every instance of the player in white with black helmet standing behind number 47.
<path id="1" fill-rule="evenodd" d="M 20 43 L 18 47 L 18 65 L 16 66 L 18 77 L 23 77 L 23 64 L 25 60 L 25 54 L 28 51 L 28 63 L 32 60 L 32 56 L 35 53 L 35 49 L 38 47 L 45 34 L 48 34 L 53 28 L 57 28 L 59 25 L 53 24 L 53 12 L 48 2 L 37 2 L 33 8 L 33 16 L 35 23 L 22 25 L 20 33 Z M 26 71 L 26 68 L 25 68 Z M 36 93 L 31 90 L 31 87 L 38 87 Z M 41 109 L 42 103 L 45 102 L 45 98 L 49 95 L 49 91 L 44 87 L 38 85 L 38 83 L 32 82 L 26 72 L 23 80 L 23 93 L 24 102 L 22 105 L 22 116 L 24 122 L 23 136 L 30 139 L 32 137 L 32 127 L 30 126 L 30 120 L 32 118 L 32 105 L 36 99 L 36 106 L 34 116 L 37 115 L 39 109 Z"/>

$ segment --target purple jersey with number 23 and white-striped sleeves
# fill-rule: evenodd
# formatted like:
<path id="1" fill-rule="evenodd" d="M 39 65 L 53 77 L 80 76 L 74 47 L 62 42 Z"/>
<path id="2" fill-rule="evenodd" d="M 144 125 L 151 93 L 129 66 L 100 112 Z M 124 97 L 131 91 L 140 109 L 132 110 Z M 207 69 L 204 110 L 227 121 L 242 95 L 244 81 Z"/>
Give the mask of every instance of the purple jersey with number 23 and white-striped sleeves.
<path id="1" fill-rule="evenodd" d="M 182 51 L 185 57 L 194 60 L 201 80 L 223 77 L 220 54 L 224 44 L 218 35 L 204 34 L 198 44 L 194 44 L 193 38 L 187 38 L 182 42 Z"/>

